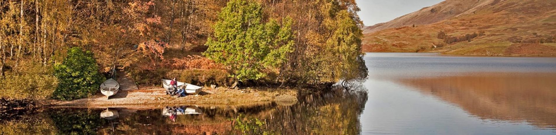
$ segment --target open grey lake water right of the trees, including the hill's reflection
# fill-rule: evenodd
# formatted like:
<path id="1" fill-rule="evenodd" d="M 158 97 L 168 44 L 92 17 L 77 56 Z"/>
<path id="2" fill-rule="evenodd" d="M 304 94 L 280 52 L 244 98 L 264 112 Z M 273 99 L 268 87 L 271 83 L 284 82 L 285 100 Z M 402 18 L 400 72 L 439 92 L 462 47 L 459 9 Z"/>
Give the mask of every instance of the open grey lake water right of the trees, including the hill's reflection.
<path id="1" fill-rule="evenodd" d="M 368 53 L 364 134 L 554 134 L 556 58 Z"/>

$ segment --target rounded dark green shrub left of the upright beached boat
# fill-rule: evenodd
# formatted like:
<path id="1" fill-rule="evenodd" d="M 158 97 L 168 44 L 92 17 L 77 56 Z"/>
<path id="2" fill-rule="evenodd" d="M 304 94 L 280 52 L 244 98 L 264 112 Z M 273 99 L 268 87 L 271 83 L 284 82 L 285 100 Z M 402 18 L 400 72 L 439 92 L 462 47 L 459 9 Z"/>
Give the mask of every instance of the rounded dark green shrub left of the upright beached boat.
<path id="1" fill-rule="evenodd" d="M 90 51 L 81 48 L 68 50 L 62 64 L 54 66 L 54 76 L 59 80 L 53 98 L 61 100 L 80 99 L 91 96 L 99 89 L 103 77 Z"/>

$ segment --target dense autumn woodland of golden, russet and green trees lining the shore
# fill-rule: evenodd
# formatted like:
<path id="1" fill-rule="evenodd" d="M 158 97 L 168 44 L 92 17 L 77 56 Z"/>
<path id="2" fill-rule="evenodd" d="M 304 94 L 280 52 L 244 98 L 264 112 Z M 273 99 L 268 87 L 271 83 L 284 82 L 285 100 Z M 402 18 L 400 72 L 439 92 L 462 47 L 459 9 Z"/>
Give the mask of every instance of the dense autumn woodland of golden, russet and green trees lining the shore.
<path id="1" fill-rule="evenodd" d="M 72 64 L 97 66 L 94 78 L 128 76 L 140 85 L 171 77 L 221 86 L 364 78 L 358 11 L 353 0 L 0 1 L 0 83 L 44 77 L 53 83 L 37 87 L 64 87 L 54 92 L 58 99 L 94 94 L 97 79 L 79 84 L 82 93 L 59 96 L 78 88 L 62 79 L 71 75 L 60 74 L 63 66 L 59 78 L 25 73 L 26 63 L 54 69 L 78 59 L 67 53 L 74 47 L 90 51 L 80 55 L 87 63 Z"/>

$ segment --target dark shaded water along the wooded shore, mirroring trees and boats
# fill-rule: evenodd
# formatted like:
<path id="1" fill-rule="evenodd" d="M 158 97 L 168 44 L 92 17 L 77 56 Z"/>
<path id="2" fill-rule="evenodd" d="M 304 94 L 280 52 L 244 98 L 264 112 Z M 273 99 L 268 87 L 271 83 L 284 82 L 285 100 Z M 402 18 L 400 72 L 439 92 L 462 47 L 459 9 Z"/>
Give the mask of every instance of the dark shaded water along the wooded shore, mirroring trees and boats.
<path id="1" fill-rule="evenodd" d="M 252 107 L 47 108 L 0 123 L 0 134 L 359 134 L 366 91 Z"/>

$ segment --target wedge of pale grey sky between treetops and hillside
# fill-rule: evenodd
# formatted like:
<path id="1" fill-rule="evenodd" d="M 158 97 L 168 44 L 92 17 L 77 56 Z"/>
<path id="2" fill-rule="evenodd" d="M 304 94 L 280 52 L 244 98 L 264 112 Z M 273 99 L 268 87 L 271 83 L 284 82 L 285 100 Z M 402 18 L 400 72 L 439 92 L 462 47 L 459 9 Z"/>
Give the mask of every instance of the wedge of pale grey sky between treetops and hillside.
<path id="1" fill-rule="evenodd" d="M 356 0 L 365 26 L 391 21 L 444 0 Z"/>

